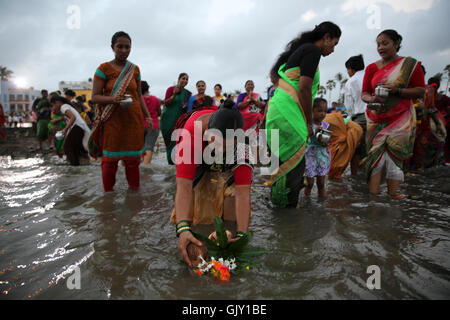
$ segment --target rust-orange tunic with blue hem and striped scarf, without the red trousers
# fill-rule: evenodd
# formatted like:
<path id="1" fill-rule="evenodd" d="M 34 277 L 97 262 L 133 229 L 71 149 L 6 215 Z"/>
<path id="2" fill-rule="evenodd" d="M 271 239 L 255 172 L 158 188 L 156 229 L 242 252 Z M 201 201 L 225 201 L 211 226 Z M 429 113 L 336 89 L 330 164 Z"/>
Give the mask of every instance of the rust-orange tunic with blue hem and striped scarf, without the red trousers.
<path id="1" fill-rule="evenodd" d="M 103 161 L 139 158 L 144 152 L 144 123 L 137 90 L 139 68 L 127 61 L 119 72 L 104 63 L 97 69 L 95 77 L 106 82 L 104 95 L 129 94 L 133 103 L 128 109 L 114 104 L 101 107 L 89 136 L 89 154 L 93 158 L 102 157 Z"/>

